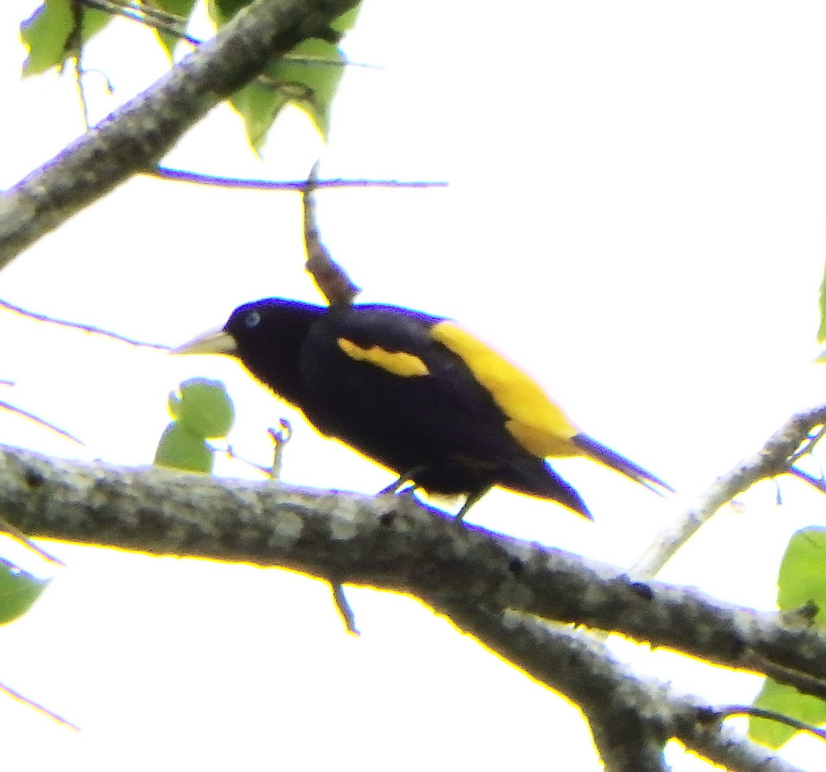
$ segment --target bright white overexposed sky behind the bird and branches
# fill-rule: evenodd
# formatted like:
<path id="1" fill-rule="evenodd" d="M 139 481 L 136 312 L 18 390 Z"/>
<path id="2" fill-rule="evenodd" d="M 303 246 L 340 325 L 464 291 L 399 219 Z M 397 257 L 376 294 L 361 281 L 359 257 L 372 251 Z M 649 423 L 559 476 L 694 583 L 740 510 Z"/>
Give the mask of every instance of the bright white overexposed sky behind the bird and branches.
<path id="1" fill-rule="evenodd" d="M 0 186 L 78 135 L 71 79 L 19 82 L 17 24 L 0 3 Z M 490 12 L 484 9 L 490 8 Z M 326 244 L 363 300 L 460 319 L 548 387 L 582 427 L 661 474 L 665 502 L 585 461 L 558 469 L 595 514 L 496 491 L 468 519 L 630 565 L 685 498 L 751 455 L 790 412 L 823 401 L 817 290 L 826 233 L 826 7 L 821 2 L 365 0 L 321 149 L 280 121 L 257 160 L 217 109 L 168 165 L 296 179 L 447 179 L 432 191 L 319 193 Z M 93 120 L 164 71 L 128 22 L 88 47 Z M 200 31 L 197 31 L 201 34 Z M 156 50 L 157 49 L 157 50 Z M 151 64 L 144 64 L 144 57 Z M 140 63 L 136 65 L 135 63 Z M 135 179 L 21 255 L 0 298 L 177 344 L 248 300 L 316 300 L 300 200 Z M 0 312 L 0 398 L 81 436 L 0 412 L 0 437 L 55 455 L 145 465 L 180 380 L 220 377 L 231 436 L 266 463 L 265 427 L 291 417 L 284 479 L 373 492 L 390 475 L 322 441 L 220 358 L 133 350 Z M 221 474 L 246 476 L 238 462 Z M 662 573 L 772 608 L 776 565 L 826 501 L 784 479 L 741 498 Z M 50 545 L 69 565 L 0 630 L 0 681 L 83 727 L 0 696 L 8 769 L 498 770 L 557 760 L 598 770 L 575 710 L 409 598 L 349 589 L 347 636 L 324 584 L 296 574 Z M 618 648 L 712 703 L 759 680 Z M 676 662 L 679 664 L 677 665 Z M 787 757 L 822 768 L 826 749 Z M 705 769 L 674 749 L 675 770 Z"/>

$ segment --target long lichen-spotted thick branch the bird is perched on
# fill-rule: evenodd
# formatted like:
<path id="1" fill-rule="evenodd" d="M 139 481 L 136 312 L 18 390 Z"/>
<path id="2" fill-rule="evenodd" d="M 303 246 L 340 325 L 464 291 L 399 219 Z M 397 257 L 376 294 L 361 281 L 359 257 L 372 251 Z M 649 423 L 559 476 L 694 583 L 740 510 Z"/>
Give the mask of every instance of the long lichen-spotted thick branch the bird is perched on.
<path id="1" fill-rule="evenodd" d="M 35 537 L 279 565 L 427 598 L 439 611 L 510 608 L 826 690 L 826 636 L 808 627 L 460 527 L 410 498 L 87 466 L 0 448 L 0 517 Z"/>

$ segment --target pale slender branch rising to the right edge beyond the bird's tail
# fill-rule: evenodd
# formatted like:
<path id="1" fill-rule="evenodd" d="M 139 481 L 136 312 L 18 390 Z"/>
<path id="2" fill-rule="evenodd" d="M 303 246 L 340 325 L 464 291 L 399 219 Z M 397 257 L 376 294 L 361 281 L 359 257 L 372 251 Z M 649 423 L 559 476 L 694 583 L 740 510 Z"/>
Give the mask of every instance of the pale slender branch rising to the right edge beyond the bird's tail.
<path id="1" fill-rule="evenodd" d="M 724 504 L 731 501 L 758 480 L 771 479 L 778 474 L 805 473 L 795 471 L 791 464 L 797 459 L 800 446 L 807 439 L 817 441 L 819 435 L 809 437 L 814 427 L 826 424 L 826 406 L 800 412 L 776 431 L 750 459 L 742 461 L 727 474 L 714 481 L 700 498 L 683 512 L 672 526 L 661 531 L 643 552 L 629 573 L 637 579 L 648 579 L 666 565 L 676 551 L 700 530 Z M 811 448 L 811 443 L 806 446 Z M 811 479 L 806 482 L 812 483 Z"/>

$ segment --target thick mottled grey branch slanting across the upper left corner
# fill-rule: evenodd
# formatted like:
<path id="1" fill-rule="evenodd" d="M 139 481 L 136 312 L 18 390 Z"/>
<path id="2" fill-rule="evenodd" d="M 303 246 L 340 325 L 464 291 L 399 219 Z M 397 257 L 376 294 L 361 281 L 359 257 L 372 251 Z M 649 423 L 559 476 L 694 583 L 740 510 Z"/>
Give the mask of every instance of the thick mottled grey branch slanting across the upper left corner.
<path id="1" fill-rule="evenodd" d="M 116 185 L 151 169 L 192 124 L 273 56 L 355 0 L 255 0 L 164 78 L 0 196 L 0 269 Z"/>

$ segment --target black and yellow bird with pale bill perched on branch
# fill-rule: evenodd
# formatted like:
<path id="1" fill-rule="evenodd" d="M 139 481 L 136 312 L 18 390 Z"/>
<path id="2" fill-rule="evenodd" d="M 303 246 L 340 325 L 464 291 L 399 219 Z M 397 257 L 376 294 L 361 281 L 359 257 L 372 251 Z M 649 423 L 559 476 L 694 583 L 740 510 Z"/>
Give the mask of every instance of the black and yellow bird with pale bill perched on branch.
<path id="1" fill-rule="evenodd" d="M 428 493 L 495 485 L 591 517 L 546 459 L 585 456 L 648 488 L 661 479 L 579 431 L 533 379 L 450 319 L 385 305 L 267 298 L 174 349 L 228 354 L 336 437 Z"/>

